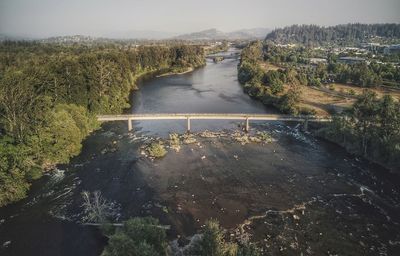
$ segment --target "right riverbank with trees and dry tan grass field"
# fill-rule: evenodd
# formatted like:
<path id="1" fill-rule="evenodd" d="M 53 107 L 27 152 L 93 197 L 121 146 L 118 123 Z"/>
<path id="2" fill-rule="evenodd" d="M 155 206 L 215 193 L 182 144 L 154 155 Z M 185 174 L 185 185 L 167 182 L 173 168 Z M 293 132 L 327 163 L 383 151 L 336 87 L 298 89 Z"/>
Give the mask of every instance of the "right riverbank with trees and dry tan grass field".
<path id="1" fill-rule="evenodd" d="M 333 117 L 332 123 L 317 131 L 318 136 L 398 172 L 400 103 L 396 91 L 343 84 L 311 87 L 301 70 L 263 64 L 261 48 L 260 43 L 253 43 L 242 52 L 238 80 L 247 94 L 281 113 Z"/>

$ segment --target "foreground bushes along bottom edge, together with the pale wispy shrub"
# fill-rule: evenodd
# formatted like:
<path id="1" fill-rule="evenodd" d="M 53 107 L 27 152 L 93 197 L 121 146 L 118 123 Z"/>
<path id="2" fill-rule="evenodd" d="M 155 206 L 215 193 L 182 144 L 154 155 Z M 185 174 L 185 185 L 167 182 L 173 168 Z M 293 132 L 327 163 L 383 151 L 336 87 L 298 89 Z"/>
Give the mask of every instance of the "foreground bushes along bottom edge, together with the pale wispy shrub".
<path id="1" fill-rule="evenodd" d="M 260 250 L 249 242 L 229 242 L 225 239 L 225 230 L 217 220 L 205 222 L 201 234 L 194 235 L 184 247 L 168 243 L 166 229 L 152 217 L 130 218 L 123 223 L 113 224 L 110 220 L 115 213 L 115 204 L 101 196 L 99 191 L 93 194 L 83 192 L 84 212 L 87 221 L 99 225 L 102 233 L 108 237 L 102 256 L 141 255 L 199 255 L 199 256 L 259 256 Z M 96 224 L 98 223 L 98 224 Z M 92 223 L 93 224 L 93 223 Z"/>

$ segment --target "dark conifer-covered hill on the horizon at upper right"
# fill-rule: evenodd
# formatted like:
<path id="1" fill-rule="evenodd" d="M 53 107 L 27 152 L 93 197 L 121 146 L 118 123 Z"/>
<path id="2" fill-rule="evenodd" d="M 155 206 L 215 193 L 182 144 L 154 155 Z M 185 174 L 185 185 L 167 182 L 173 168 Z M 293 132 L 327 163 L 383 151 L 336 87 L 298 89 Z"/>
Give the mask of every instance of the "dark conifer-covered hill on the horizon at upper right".
<path id="1" fill-rule="evenodd" d="M 279 44 L 355 44 L 371 38 L 400 38 L 400 24 L 345 24 L 331 27 L 293 25 L 275 29 L 266 40 Z"/>

